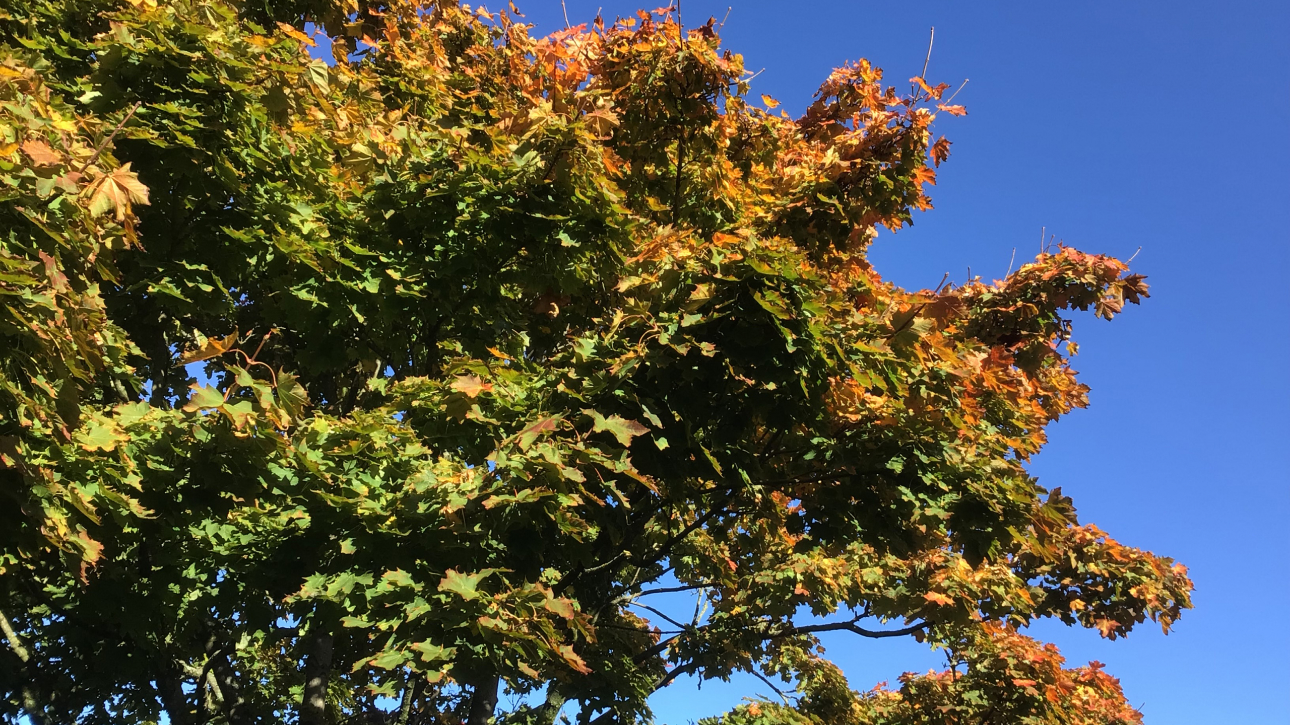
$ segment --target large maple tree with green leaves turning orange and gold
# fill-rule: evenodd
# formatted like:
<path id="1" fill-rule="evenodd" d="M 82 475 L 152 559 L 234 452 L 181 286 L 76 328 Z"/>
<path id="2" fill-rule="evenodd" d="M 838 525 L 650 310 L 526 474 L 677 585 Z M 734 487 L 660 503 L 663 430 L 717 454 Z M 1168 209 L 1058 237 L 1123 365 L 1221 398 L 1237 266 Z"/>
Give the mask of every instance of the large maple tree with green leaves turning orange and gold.
<path id="1" fill-rule="evenodd" d="M 747 671 L 799 697 L 724 724 L 1139 722 L 1018 630 L 1191 606 L 1024 468 L 1066 311 L 1143 277 L 899 289 L 946 85 L 789 119 L 712 22 L 520 19 L 0 0 L 5 719 L 630 722 Z M 860 694 L 837 630 L 953 667 Z"/>

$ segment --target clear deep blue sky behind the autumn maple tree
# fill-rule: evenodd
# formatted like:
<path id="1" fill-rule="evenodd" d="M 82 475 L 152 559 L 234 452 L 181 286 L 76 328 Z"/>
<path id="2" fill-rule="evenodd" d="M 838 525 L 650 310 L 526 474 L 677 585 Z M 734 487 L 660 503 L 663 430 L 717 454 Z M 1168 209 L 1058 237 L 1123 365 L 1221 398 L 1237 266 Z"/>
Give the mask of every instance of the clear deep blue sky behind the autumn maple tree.
<path id="1" fill-rule="evenodd" d="M 562 27 L 559 0 L 516 1 L 537 32 Z M 971 79 L 969 116 L 938 121 L 955 144 L 937 209 L 878 237 L 888 279 L 1001 276 L 1041 227 L 1086 252 L 1142 246 L 1152 298 L 1076 320 L 1093 406 L 1051 430 L 1033 471 L 1084 520 L 1186 562 L 1196 609 L 1167 637 L 1032 633 L 1106 662 L 1148 725 L 1290 722 L 1290 4 L 682 1 L 686 25 L 733 3 L 725 44 L 791 114 L 844 61 L 906 81 L 937 27 L 928 75 Z M 566 3 L 574 25 L 637 8 Z M 827 644 L 857 688 L 938 664 L 913 642 Z M 679 681 L 654 704 L 684 725 L 766 690 Z"/>

